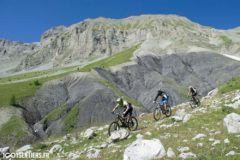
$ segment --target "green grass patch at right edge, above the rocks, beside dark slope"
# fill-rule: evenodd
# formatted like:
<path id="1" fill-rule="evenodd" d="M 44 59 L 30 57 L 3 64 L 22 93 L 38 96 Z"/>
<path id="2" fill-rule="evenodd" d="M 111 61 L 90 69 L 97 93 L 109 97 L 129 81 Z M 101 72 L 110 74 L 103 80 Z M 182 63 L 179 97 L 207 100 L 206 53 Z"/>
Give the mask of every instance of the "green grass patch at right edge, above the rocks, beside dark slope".
<path id="1" fill-rule="evenodd" d="M 218 89 L 221 94 L 240 89 L 240 77 L 233 78 L 227 83 L 220 85 Z"/>

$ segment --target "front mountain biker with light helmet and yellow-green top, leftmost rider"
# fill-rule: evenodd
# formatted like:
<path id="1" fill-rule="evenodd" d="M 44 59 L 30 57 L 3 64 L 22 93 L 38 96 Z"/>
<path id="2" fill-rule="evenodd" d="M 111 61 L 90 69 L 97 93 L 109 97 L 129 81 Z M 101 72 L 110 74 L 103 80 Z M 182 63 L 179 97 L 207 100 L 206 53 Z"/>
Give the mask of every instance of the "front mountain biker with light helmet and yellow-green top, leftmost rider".
<path id="1" fill-rule="evenodd" d="M 116 106 L 113 108 L 112 112 L 114 112 L 118 107 L 120 108 L 124 108 L 124 111 L 123 111 L 123 118 L 126 118 L 127 115 L 127 121 L 130 120 L 130 117 L 132 116 L 132 112 L 133 112 L 133 107 L 132 107 L 132 104 L 131 103 L 128 103 L 127 101 L 123 100 L 123 98 L 118 98 L 116 100 Z"/>

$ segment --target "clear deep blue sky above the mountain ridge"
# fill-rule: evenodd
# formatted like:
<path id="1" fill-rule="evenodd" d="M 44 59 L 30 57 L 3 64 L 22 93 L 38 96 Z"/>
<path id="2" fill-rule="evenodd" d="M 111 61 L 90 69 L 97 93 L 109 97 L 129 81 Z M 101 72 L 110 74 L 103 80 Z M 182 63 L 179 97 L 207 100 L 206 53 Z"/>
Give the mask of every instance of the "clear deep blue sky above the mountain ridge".
<path id="1" fill-rule="evenodd" d="M 86 18 L 177 14 L 219 29 L 240 26 L 239 0 L 0 0 L 0 38 L 36 42 Z"/>

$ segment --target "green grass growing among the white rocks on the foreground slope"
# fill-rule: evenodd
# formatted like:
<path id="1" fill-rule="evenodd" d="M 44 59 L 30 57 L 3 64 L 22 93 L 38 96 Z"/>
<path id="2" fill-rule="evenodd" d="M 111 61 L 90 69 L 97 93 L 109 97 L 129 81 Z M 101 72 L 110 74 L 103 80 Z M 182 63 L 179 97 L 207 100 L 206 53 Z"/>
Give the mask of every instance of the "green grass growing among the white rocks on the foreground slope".
<path id="1" fill-rule="evenodd" d="M 147 114 L 142 118 L 139 118 L 139 129 L 138 131 L 131 132 L 131 136 L 123 141 L 115 143 L 118 147 L 111 147 L 111 148 L 104 148 L 101 149 L 101 158 L 100 160 L 121 160 L 123 159 L 123 153 L 125 148 L 136 140 L 137 134 L 144 135 L 145 139 L 153 139 L 157 138 L 160 139 L 163 143 L 165 149 L 168 147 L 173 148 L 176 155 L 179 155 L 177 148 L 181 147 L 189 147 L 190 151 L 195 153 L 198 158 L 197 159 L 218 159 L 218 160 L 236 160 L 240 158 L 240 155 L 226 157 L 225 154 L 231 150 L 240 153 L 240 138 L 236 137 L 236 134 L 228 134 L 226 128 L 223 126 L 223 118 L 229 113 L 229 110 L 222 110 L 221 106 L 224 104 L 226 99 L 221 99 L 221 96 L 217 96 L 214 98 L 222 102 L 219 105 L 218 109 L 211 109 L 209 108 L 210 100 L 206 100 L 203 103 L 203 108 L 205 108 L 208 112 L 207 113 L 192 113 L 193 117 L 186 123 L 177 122 L 179 126 L 173 126 L 171 128 L 160 128 L 161 124 L 171 124 L 173 120 L 171 118 L 165 118 L 159 122 L 156 122 L 152 118 L 152 114 Z M 188 112 L 194 111 L 190 107 L 185 108 Z M 240 109 L 232 109 L 230 112 L 236 112 L 240 114 Z M 214 133 L 216 131 L 220 131 L 220 134 L 211 135 L 210 133 Z M 151 132 L 152 135 L 146 135 L 146 132 Z M 192 140 L 197 134 L 203 133 L 207 135 L 206 138 L 202 140 Z M 167 137 L 167 135 L 171 135 Z M 239 135 L 239 134 L 238 134 Z M 43 142 L 42 144 L 35 144 L 36 147 L 45 146 L 44 150 L 48 150 L 51 148 L 53 144 L 52 141 L 56 141 L 55 143 L 60 143 L 62 146 L 64 144 L 69 144 L 69 146 L 64 146 L 65 152 L 76 152 L 82 151 L 85 148 L 90 146 L 97 146 L 101 145 L 106 142 L 107 139 L 107 132 L 106 129 L 97 132 L 97 137 L 92 140 L 87 140 L 81 138 L 80 133 L 72 133 L 71 137 L 77 138 L 77 144 L 71 144 L 70 141 L 60 142 L 61 138 L 58 139 L 48 139 L 46 142 L 50 144 L 46 147 L 46 144 Z M 216 146 L 212 146 L 213 142 L 210 142 L 209 139 L 214 138 L 220 140 L 220 144 Z M 228 138 L 230 140 L 229 144 L 224 144 L 224 139 Z M 184 141 L 187 140 L 187 141 Z M 203 143 L 203 147 L 198 147 L 197 143 Z M 238 148 L 236 148 L 238 147 Z M 43 150 L 42 150 L 43 151 Z M 54 156 L 52 157 L 54 159 Z M 83 154 L 81 155 L 80 159 L 87 159 L 86 156 Z"/>

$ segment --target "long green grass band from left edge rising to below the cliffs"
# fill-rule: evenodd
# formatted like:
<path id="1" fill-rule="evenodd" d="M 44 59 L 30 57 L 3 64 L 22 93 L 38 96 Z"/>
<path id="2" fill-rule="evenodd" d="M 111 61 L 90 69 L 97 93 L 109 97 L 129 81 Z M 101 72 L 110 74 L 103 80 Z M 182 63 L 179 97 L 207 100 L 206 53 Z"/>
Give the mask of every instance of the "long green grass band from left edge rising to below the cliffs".
<path id="1" fill-rule="evenodd" d="M 117 64 L 127 62 L 132 57 L 133 52 L 138 48 L 138 46 L 139 45 L 134 46 L 130 49 L 127 49 L 126 51 L 114 54 L 103 60 L 86 65 L 83 68 L 75 69 L 75 70 L 73 70 L 72 68 L 70 68 L 70 69 L 68 68 L 69 72 L 59 74 L 56 76 L 40 78 L 38 80 L 41 84 L 43 84 L 50 80 L 62 78 L 64 76 L 66 76 L 67 74 L 70 74 L 73 72 L 78 72 L 78 71 L 87 72 L 95 67 L 104 67 L 105 68 L 105 67 L 111 67 L 111 66 L 114 66 Z M 48 72 L 48 71 L 46 71 L 46 72 Z M 34 74 L 35 73 L 29 73 L 29 75 L 27 75 L 27 76 L 31 77 Z M 23 74 L 23 75 L 18 75 L 17 77 L 15 77 L 15 79 L 16 78 L 17 79 L 19 79 L 19 78 L 25 79 L 26 77 Z M 0 84 L 0 106 L 9 105 L 10 99 L 13 95 L 16 96 L 17 101 L 21 101 L 22 99 L 24 99 L 26 97 L 32 96 L 35 93 L 35 91 L 40 87 L 40 86 L 35 86 L 34 81 L 35 80 L 30 80 L 30 81 L 20 82 L 20 83 L 12 83 L 12 84 Z"/>

